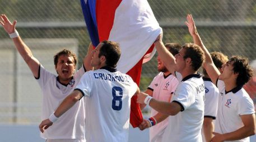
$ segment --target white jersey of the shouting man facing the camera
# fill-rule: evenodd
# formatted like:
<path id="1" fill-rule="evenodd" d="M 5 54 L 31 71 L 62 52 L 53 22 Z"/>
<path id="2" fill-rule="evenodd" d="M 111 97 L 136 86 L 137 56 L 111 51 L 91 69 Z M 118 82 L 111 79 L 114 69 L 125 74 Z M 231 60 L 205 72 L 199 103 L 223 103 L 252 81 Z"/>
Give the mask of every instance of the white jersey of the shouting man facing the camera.
<path id="1" fill-rule="evenodd" d="M 43 107 L 41 120 L 48 119 L 60 103 L 75 89 L 85 69 L 82 67 L 75 73 L 67 86 L 60 84 L 57 76 L 40 65 L 37 81 L 43 91 Z M 59 117 L 58 121 L 41 133 L 44 139 L 85 139 L 85 107 L 84 100 L 76 103 L 71 109 Z M 76 116 L 76 117 L 75 117 Z"/>

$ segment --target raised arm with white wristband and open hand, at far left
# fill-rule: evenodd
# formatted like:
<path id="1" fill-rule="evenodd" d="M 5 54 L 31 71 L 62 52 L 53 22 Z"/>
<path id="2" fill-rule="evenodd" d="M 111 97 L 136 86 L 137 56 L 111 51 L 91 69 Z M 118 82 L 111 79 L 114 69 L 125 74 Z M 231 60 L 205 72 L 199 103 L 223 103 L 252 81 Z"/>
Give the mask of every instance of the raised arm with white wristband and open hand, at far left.
<path id="1" fill-rule="evenodd" d="M 20 53 L 22 58 L 25 60 L 34 77 L 38 78 L 40 63 L 38 59 L 32 55 L 31 50 L 29 47 L 27 47 L 24 41 L 22 41 L 21 37 L 15 34 L 15 32 L 17 32 L 15 29 L 16 23 L 17 21 L 13 21 L 13 23 L 11 23 L 6 15 L 1 15 L 0 24 L 9 35 L 14 33 L 15 37 L 13 37 L 12 40 L 16 46 L 16 49 L 18 50 L 18 53 Z"/>

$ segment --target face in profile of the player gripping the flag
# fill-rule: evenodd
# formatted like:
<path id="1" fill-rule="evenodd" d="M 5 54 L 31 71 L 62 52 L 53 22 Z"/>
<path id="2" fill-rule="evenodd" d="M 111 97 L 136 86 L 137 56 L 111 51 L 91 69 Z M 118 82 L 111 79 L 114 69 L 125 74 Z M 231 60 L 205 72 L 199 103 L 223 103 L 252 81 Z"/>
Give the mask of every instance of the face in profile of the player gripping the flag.
<path id="1" fill-rule="evenodd" d="M 184 59 L 185 55 L 185 49 L 181 49 L 178 54 L 175 55 L 175 61 L 176 61 L 176 71 L 182 72 L 182 70 L 186 66 L 186 61 Z"/>

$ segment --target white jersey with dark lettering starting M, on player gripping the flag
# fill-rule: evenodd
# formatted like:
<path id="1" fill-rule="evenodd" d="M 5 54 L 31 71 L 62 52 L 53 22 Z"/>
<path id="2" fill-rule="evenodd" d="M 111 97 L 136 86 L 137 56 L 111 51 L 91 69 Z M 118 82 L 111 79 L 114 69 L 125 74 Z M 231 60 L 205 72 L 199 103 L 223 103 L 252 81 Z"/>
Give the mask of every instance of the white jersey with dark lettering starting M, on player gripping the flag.
<path id="1" fill-rule="evenodd" d="M 177 72 L 175 74 L 179 80 L 181 75 Z M 169 116 L 169 124 L 162 141 L 202 141 L 204 93 L 204 83 L 200 74 L 190 74 L 182 79 L 171 97 L 171 102 L 181 106 L 181 112 Z"/>

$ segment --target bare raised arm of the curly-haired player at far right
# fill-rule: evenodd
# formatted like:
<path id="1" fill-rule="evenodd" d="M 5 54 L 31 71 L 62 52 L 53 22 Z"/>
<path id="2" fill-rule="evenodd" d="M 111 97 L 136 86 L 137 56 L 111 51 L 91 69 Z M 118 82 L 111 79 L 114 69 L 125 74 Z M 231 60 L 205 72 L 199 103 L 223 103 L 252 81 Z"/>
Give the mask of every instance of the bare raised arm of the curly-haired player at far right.
<path id="1" fill-rule="evenodd" d="M 201 37 L 199 36 L 199 34 L 197 32 L 197 28 L 196 28 L 196 25 L 194 23 L 192 15 L 187 16 L 187 21 L 185 22 L 185 24 L 188 26 L 189 33 L 193 37 L 194 44 L 199 45 L 202 48 L 202 50 L 204 51 L 204 55 L 206 56 L 206 60 L 203 64 L 203 68 L 206 69 L 206 72 L 209 75 L 209 77 L 211 78 L 212 82 L 216 83 L 216 81 L 218 79 L 218 75 L 220 75 L 220 71 L 217 69 L 217 67 L 213 63 L 209 51 L 203 45 Z"/>

